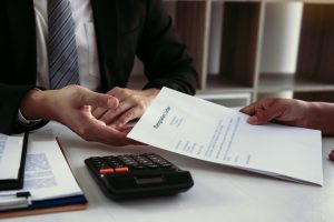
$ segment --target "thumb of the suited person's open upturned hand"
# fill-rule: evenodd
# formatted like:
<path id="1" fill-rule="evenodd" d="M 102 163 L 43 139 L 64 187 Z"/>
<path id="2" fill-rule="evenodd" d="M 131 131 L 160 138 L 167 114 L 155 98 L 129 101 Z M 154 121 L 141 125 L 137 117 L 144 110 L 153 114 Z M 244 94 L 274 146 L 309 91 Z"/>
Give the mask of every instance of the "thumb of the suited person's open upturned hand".
<path id="1" fill-rule="evenodd" d="M 117 108 L 119 101 L 110 94 L 102 94 L 97 92 L 87 92 L 81 97 L 82 105 L 102 107 L 106 109 Z"/>

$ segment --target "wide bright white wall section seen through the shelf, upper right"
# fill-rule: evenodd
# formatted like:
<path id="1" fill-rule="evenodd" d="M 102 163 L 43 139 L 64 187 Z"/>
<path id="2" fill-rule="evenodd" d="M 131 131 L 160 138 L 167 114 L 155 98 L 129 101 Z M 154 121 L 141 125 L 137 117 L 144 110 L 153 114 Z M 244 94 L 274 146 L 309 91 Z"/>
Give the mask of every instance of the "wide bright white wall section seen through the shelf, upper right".
<path id="1" fill-rule="evenodd" d="M 261 72 L 295 72 L 302 12 L 301 2 L 267 4 Z"/>

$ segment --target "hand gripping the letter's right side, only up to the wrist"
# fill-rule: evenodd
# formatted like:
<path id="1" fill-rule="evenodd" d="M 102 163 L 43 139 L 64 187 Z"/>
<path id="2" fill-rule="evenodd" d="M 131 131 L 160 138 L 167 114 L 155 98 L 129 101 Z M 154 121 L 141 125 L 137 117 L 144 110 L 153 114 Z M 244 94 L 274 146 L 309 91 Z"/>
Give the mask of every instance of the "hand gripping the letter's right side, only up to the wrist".
<path id="1" fill-rule="evenodd" d="M 266 98 L 243 109 L 249 117 L 248 123 L 277 122 L 287 125 L 306 127 L 308 103 L 301 100 Z"/>

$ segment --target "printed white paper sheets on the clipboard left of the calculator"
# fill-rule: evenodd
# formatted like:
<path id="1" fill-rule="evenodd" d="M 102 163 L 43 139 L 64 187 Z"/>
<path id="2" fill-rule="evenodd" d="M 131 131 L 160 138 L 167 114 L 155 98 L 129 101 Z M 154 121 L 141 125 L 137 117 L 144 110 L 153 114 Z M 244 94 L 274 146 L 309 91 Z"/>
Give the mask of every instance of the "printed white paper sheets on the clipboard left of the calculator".
<path id="1" fill-rule="evenodd" d="M 0 192 L 0 203 L 18 191 L 29 191 L 31 201 L 84 194 L 50 130 L 29 134 L 23 189 Z"/>

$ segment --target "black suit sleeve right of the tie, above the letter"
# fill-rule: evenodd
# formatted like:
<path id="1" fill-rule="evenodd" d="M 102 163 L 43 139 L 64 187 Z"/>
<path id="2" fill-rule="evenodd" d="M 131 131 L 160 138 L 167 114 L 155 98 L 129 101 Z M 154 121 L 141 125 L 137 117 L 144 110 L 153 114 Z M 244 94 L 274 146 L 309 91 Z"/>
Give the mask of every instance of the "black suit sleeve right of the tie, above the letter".
<path id="1" fill-rule="evenodd" d="M 144 62 L 148 88 L 168 87 L 195 94 L 197 72 L 186 47 L 171 26 L 171 18 L 160 0 L 147 1 L 145 28 L 137 51 Z"/>

